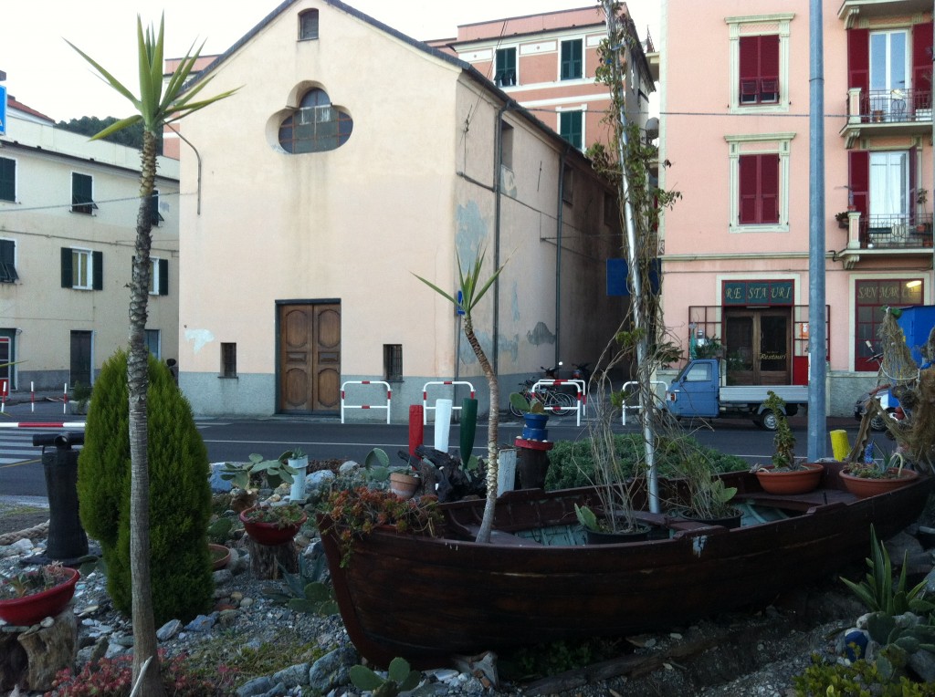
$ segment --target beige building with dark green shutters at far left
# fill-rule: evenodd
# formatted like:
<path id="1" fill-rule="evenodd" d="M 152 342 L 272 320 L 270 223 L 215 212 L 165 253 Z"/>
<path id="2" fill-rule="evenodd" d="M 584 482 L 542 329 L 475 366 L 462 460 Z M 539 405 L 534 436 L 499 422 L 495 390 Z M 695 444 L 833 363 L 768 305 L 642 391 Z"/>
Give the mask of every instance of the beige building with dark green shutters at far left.
<path id="1" fill-rule="evenodd" d="M 15 84 L 11 85 L 15 89 Z M 139 151 L 54 127 L 10 99 L 0 135 L 0 379 L 11 391 L 93 384 L 125 347 Z M 152 202 L 147 341 L 179 346 L 179 163 L 161 157 Z"/>

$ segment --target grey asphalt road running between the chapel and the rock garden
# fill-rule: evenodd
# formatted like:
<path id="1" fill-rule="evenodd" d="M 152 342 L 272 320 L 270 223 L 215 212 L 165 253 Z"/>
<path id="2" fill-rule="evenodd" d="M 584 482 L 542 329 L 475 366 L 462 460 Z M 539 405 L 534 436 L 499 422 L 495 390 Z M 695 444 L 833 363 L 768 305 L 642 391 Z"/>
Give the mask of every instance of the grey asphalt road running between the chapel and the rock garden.
<path id="1" fill-rule="evenodd" d="M 76 421 L 83 417 L 63 414 L 61 404 L 45 403 L 34 407 L 30 404 L 7 405 L 0 414 L 0 423 L 35 421 Z M 265 458 L 276 458 L 283 450 L 300 446 L 312 460 L 356 460 L 363 462 L 372 448 L 383 448 L 391 462 L 401 462 L 396 453 L 409 445 L 409 427 L 403 424 L 387 425 L 374 423 L 341 424 L 335 418 L 267 417 L 260 419 L 198 419 L 198 430 L 208 447 L 210 462 L 245 461 L 251 453 L 260 453 Z M 772 453 L 772 433 L 763 431 L 747 420 L 718 420 L 714 428 L 701 421 L 685 423 L 701 443 L 751 463 L 769 460 Z M 790 420 L 797 436 L 796 452 L 804 456 L 807 450 L 807 421 L 802 417 Z M 843 428 L 851 440 L 856 434 L 856 420 L 828 420 L 828 430 Z M 574 417 L 549 420 L 549 436 L 552 440 L 575 439 L 586 434 L 586 426 L 577 426 Z M 617 425 L 620 432 L 633 431 L 635 427 Z M 33 434 L 57 434 L 61 428 L 8 428 L 0 426 L 0 499 L 10 496 L 46 495 L 45 477 L 41 462 L 41 448 L 32 445 Z M 502 418 L 498 441 L 512 443 L 520 435 L 522 424 L 509 414 Z M 456 449 L 460 438 L 457 424 L 449 434 L 449 446 Z M 877 438 L 881 445 L 885 438 Z M 474 452 L 483 455 L 486 450 L 486 422 L 478 425 L 474 440 Z M 424 443 L 435 443 L 435 428 L 432 424 L 424 428 Z M 827 452 L 831 448 L 828 442 Z"/>

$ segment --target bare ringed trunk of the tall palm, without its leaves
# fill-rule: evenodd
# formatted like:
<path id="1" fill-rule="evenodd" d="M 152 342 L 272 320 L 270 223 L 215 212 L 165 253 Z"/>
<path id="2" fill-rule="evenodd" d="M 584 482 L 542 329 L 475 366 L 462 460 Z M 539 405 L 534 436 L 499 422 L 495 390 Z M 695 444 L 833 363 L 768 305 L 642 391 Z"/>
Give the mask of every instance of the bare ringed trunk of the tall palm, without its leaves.
<path id="1" fill-rule="evenodd" d="M 144 662 L 156 656 L 157 639 L 152 614 L 150 575 L 150 458 L 148 452 L 147 391 L 150 386 L 149 350 L 146 346 L 147 305 L 150 293 L 152 244 L 151 197 L 156 178 L 156 136 L 143 131 L 140 155 L 137 245 L 130 284 L 130 352 L 126 377 L 130 400 L 130 574 L 133 589 L 133 676 L 140 697 L 164 697 L 159 661 L 150 661 L 140 680 Z"/>

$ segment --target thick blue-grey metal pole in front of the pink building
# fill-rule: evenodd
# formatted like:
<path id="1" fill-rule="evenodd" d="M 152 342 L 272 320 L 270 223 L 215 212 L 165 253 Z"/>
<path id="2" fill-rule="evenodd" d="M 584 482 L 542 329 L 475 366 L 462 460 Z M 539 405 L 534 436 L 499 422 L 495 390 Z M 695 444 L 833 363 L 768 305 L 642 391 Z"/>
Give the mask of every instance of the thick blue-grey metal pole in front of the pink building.
<path id="1" fill-rule="evenodd" d="M 809 462 L 825 457 L 825 46 L 823 0 L 810 0 L 809 77 Z"/>

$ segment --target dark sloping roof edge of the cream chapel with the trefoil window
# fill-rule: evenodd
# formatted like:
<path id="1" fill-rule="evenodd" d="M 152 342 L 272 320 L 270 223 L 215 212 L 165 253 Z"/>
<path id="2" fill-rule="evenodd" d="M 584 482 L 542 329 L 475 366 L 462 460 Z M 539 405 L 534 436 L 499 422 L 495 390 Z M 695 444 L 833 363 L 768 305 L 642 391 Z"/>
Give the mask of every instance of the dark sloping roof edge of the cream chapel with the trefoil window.
<path id="1" fill-rule="evenodd" d="M 257 34 L 259 34 L 266 27 L 267 24 L 269 24 L 271 21 L 275 21 L 283 12 L 286 11 L 286 9 L 295 5 L 296 2 L 298 2 L 298 0 L 283 0 L 283 2 L 280 4 L 279 7 L 276 7 L 269 14 L 267 14 L 266 17 L 264 17 L 263 20 L 257 23 L 256 26 L 254 26 L 249 32 L 247 32 L 247 34 L 245 34 L 244 36 L 241 36 L 237 40 L 237 42 L 235 42 L 228 50 L 225 50 L 221 55 L 219 55 L 216 59 L 211 61 L 211 63 L 209 63 L 203 70 L 201 70 L 197 76 L 189 80 L 188 87 L 193 86 L 202 78 L 207 77 L 212 70 L 217 68 L 219 65 L 223 64 L 223 62 L 226 61 L 230 56 L 234 55 L 238 50 L 240 50 L 244 45 L 246 45 L 253 38 L 253 36 L 256 36 Z M 399 39 L 403 43 L 409 44 L 410 47 L 412 47 L 415 50 L 420 50 L 434 58 L 438 58 L 440 61 L 444 61 L 445 63 L 454 65 L 455 67 L 463 71 L 468 76 L 468 78 L 471 78 L 475 82 L 477 82 L 478 85 L 482 87 L 482 89 L 486 90 L 487 92 L 496 94 L 496 97 L 499 99 L 499 101 L 503 102 L 505 105 L 509 105 L 510 111 L 512 113 L 516 113 L 516 114 L 523 116 L 526 121 L 529 121 L 530 123 L 532 123 L 537 129 L 542 131 L 544 135 L 552 139 L 556 144 L 562 147 L 567 147 L 569 152 L 577 152 L 579 156 L 584 158 L 584 155 L 582 154 L 580 150 L 571 147 L 568 144 L 568 141 L 565 140 L 565 138 L 555 133 L 553 128 L 550 128 L 542 121 L 539 121 L 539 119 L 536 116 L 534 116 L 530 111 L 525 109 L 525 107 L 521 107 L 516 102 L 516 100 L 514 100 L 509 94 L 497 88 L 496 85 L 490 79 L 484 76 L 473 65 L 465 61 L 462 61 L 460 58 L 453 56 L 451 53 L 446 53 L 443 50 L 439 50 L 432 46 L 429 46 L 424 41 L 419 41 L 418 39 L 414 39 L 411 36 L 407 36 L 403 34 L 402 32 L 400 32 L 399 30 L 394 29 L 393 27 L 389 26 L 388 24 L 384 24 L 383 22 L 370 17 L 369 15 L 361 12 L 359 9 L 356 9 L 355 7 L 351 7 L 350 5 L 347 5 L 341 2 L 340 0 L 322 0 L 322 2 L 324 2 L 326 5 L 330 5 L 331 7 L 334 7 L 335 9 L 345 12 L 351 15 L 352 17 L 371 25 L 372 27 L 376 29 L 379 29 L 381 32 L 384 32 L 385 34 L 388 34 L 390 36 L 393 36 Z M 631 23 L 632 23 L 632 20 L 631 20 Z"/>

